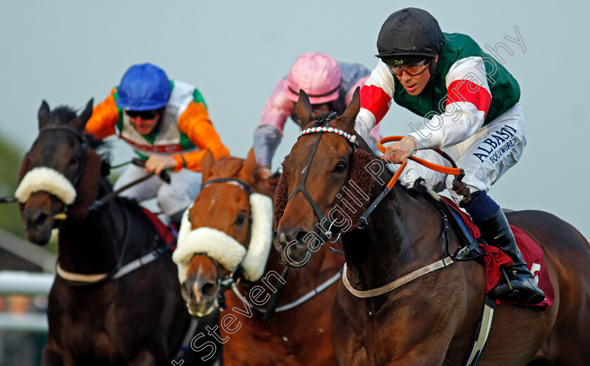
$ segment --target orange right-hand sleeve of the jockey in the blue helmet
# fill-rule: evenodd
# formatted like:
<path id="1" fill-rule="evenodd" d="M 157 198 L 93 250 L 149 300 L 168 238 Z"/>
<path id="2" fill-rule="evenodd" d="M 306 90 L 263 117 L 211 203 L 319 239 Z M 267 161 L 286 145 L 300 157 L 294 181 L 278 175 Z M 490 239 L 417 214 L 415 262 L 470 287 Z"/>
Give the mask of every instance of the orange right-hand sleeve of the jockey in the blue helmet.
<path id="1" fill-rule="evenodd" d="M 188 137 L 190 142 L 199 148 L 199 151 L 172 155 L 176 160 L 174 171 L 180 171 L 183 167 L 200 171 L 201 159 L 206 149 L 213 152 L 215 159 L 230 154 L 228 148 L 225 148 L 225 145 L 221 143 L 221 138 L 219 138 L 213 124 L 211 124 L 204 103 L 191 101 L 181 117 L 178 118 L 178 129 Z"/>

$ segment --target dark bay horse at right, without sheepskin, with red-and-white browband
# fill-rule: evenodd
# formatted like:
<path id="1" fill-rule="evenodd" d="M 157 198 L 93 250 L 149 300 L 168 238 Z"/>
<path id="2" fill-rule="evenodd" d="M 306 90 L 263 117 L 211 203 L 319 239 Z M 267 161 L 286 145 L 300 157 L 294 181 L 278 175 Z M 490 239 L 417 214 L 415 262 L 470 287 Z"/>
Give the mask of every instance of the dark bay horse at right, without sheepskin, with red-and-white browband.
<path id="1" fill-rule="evenodd" d="M 302 129 L 318 126 L 307 96 L 301 94 L 296 110 Z M 328 126 L 355 135 L 359 108 L 357 91 L 346 112 Z M 313 252 L 303 236 L 320 233 L 317 216 L 328 216 L 336 204 L 342 203 L 339 192 L 350 179 L 367 189 L 367 203 L 381 192 L 382 183 L 363 183 L 367 176 L 362 170 L 375 157 L 358 136 L 360 145 L 355 151 L 354 139 L 337 133 L 310 133 L 301 136 L 285 158 L 284 183 L 279 183 L 275 196 L 276 214 L 282 215 L 275 230 L 275 247 L 284 256 L 289 255 L 287 262 L 303 261 Z M 391 178 L 386 169 L 379 177 L 384 182 Z M 301 187 L 308 198 L 301 190 L 292 195 Z M 527 365 L 531 360 L 536 361 L 530 365 L 587 365 L 589 243 L 570 224 L 542 211 L 515 211 L 506 216 L 543 249 L 555 302 L 547 311 L 497 306 L 490 339 L 478 365 Z M 353 213 L 349 217 L 354 229 L 358 216 Z M 323 226 L 326 229 L 327 225 Z M 435 207 L 425 197 L 412 195 L 396 184 L 370 214 L 366 228 L 341 235 L 350 285 L 357 290 L 375 289 L 440 261 L 442 233 L 442 218 Z M 452 230 L 452 250 L 459 247 L 458 237 Z M 293 240 L 299 244 L 285 253 L 287 243 Z M 332 311 L 339 364 L 463 365 L 482 312 L 484 281 L 483 266 L 468 261 L 368 299 L 353 296 L 340 283 Z"/>

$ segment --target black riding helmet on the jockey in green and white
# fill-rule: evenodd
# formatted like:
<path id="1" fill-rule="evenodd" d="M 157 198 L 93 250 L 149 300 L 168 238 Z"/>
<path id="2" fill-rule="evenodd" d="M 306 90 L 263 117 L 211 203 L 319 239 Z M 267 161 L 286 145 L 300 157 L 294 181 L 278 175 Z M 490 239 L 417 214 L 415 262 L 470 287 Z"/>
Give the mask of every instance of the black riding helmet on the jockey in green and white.
<path id="1" fill-rule="evenodd" d="M 438 21 L 418 8 L 404 8 L 389 15 L 381 26 L 377 38 L 376 57 L 388 65 L 417 63 L 426 58 L 435 58 L 445 35 Z M 430 63 L 431 80 L 434 77 L 435 62 Z"/>

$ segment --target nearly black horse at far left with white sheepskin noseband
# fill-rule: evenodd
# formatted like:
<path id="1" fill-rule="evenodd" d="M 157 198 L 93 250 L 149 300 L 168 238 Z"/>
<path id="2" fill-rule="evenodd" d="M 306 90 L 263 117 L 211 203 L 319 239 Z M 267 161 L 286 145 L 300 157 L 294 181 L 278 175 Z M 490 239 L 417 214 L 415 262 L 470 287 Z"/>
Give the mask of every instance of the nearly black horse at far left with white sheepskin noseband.
<path id="1" fill-rule="evenodd" d="M 92 100 L 79 117 L 69 107 L 50 112 L 43 102 L 39 136 L 20 169 L 19 188 L 28 192 L 20 209 L 29 241 L 46 244 L 58 225 L 54 216 L 67 214 L 58 225 L 62 275 L 48 298 L 41 365 L 170 365 L 190 323 L 176 266 L 162 250 L 145 266 L 110 278 L 120 264 L 165 244 L 135 202 L 117 197 L 89 210 L 112 191 L 93 150 L 98 143 L 82 134 L 91 114 Z M 191 364 L 185 358 L 184 365 Z"/>

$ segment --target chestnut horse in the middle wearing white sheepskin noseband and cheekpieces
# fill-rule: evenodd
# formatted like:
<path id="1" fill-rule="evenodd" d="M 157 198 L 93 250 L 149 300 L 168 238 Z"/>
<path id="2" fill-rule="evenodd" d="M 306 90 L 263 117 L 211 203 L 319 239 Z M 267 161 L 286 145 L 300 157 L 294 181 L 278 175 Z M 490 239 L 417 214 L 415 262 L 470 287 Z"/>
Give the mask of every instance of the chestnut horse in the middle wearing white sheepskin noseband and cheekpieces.
<path id="1" fill-rule="evenodd" d="M 225 365 L 336 365 L 330 333 L 336 286 L 329 284 L 339 279 L 343 259 L 329 251 L 317 255 L 291 276 L 272 324 L 265 322 L 283 269 L 270 251 L 270 197 L 278 179 L 261 176 L 253 150 L 245 161 L 214 162 L 207 152 L 201 166 L 202 191 L 183 218 L 173 259 L 191 313 L 226 303 L 220 320 Z"/>

